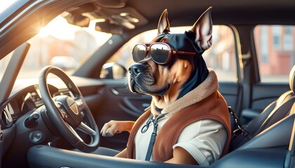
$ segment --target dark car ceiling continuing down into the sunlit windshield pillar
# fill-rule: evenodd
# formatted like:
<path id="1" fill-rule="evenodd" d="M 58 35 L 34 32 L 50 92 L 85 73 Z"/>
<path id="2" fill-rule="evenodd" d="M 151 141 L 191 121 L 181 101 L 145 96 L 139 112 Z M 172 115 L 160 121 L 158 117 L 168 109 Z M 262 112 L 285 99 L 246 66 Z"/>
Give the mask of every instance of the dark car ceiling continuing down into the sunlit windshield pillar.
<path id="1" fill-rule="evenodd" d="M 39 13 L 29 15 L 26 20 L 20 20 L 11 31 L 1 32 L 0 51 L 2 55 L 0 58 L 37 34 L 33 26 L 45 25 L 65 10 L 69 13 L 83 13 L 91 16 L 92 19 L 109 19 L 112 15 L 131 12 L 139 22 L 134 24 L 136 29 L 125 29 L 126 36 L 129 37 L 148 29 L 156 29 L 159 16 L 164 9 L 168 10 L 171 27 L 193 25 L 199 15 L 209 6 L 213 7 L 214 25 L 295 25 L 294 0 L 63 0 L 46 2 L 50 2 L 49 5 L 39 10 Z M 18 41 L 12 41 L 14 37 Z"/>

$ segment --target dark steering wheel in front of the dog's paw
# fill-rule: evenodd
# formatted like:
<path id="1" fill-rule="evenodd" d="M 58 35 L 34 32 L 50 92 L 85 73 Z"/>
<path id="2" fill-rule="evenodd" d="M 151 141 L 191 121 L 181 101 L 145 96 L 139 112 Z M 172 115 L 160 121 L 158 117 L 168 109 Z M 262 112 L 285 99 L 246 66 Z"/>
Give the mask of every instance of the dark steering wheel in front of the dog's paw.
<path id="1" fill-rule="evenodd" d="M 47 83 L 49 73 L 53 73 L 63 80 L 63 83 L 74 96 L 60 95 L 51 97 Z M 100 140 L 98 126 L 81 92 L 70 77 L 55 66 L 46 66 L 39 73 L 39 90 L 48 118 L 54 123 L 63 137 L 80 151 L 95 151 Z M 87 123 L 82 122 L 83 120 L 86 120 Z M 77 130 L 89 135 L 91 141 L 89 143 L 84 142 L 77 134 Z"/>

